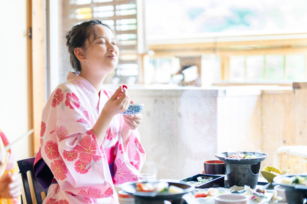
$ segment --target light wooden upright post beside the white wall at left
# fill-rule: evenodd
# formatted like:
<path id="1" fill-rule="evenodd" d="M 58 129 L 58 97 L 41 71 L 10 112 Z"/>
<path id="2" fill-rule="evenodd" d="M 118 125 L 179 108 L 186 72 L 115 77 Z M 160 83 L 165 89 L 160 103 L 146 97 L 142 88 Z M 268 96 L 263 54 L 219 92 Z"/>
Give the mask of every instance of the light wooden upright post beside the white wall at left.
<path id="1" fill-rule="evenodd" d="M 45 105 L 44 1 L 32 0 L 33 155 L 40 147 L 41 114 Z"/>

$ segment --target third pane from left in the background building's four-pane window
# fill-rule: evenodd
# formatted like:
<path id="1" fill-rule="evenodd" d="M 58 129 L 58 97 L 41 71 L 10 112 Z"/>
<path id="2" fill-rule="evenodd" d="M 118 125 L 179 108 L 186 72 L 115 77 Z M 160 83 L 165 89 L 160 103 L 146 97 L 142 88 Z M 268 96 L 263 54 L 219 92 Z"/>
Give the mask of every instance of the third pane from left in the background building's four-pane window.
<path id="1" fill-rule="evenodd" d="M 284 56 L 266 55 L 266 72 L 268 80 L 283 80 Z"/>

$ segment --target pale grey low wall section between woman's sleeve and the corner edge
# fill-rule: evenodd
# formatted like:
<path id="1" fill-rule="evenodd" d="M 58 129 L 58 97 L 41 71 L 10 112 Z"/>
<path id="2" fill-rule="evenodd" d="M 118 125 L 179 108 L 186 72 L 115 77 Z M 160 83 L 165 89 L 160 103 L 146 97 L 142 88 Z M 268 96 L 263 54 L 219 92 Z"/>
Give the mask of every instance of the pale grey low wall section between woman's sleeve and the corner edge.
<path id="1" fill-rule="evenodd" d="M 128 94 L 134 103 L 145 104 L 138 129 L 146 151 L 142 173 L 183 179 L 216 159 L 218 90 L 130 87 Z"/>

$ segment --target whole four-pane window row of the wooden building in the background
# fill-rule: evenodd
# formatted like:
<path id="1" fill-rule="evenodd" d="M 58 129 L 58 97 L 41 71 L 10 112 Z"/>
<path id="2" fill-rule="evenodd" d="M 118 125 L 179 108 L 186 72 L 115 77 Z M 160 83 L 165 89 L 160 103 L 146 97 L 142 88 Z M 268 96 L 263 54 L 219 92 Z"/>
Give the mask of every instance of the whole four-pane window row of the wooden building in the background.
<path id="1" fill-rule="evenodd" d="M 259 82 L 307 79 L 303 54 L 232 56 L 229 69 L 230 81 Z"/>

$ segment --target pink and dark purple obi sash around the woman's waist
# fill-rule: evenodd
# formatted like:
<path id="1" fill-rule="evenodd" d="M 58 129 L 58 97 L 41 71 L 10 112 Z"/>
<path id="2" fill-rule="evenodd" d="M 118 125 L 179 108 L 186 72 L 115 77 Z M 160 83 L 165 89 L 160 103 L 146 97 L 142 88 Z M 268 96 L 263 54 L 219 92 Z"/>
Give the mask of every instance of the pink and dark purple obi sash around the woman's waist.
<path id="1" fill-rule="evenodd" d="M 107 157 L 111 177 L 114 177 L 115 170 L 114 170 L 114 147 L 111 148 L 104 148 L 104 152 Z M 56 179 L 53 176 L 52 171 L 50 170 L 49 166 L 46 164 L 44 159 L 41 157 L 41 150 L 39 150 L 36 154 L 33 170 L 36 179 L 41 183 L 41 185 L 47 189 L 50 184 L 57 183 Z"/>

